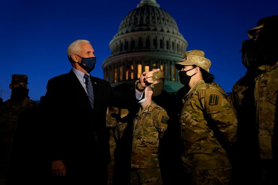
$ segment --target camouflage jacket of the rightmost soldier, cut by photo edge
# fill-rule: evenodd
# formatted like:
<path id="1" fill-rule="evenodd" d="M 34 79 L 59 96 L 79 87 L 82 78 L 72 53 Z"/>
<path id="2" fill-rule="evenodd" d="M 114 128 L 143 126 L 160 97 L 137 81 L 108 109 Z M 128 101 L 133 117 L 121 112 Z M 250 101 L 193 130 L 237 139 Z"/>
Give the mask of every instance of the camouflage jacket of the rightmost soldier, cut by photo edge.
<path id="1" fill-rule="evenodd" d="M 277 158 L 273 153 L 278 149 L 277 91 L 278 62 L 273 65 L 260 66 L 265 71 L 255 79 L 256 122 L 259 127 L 260 156 L 263 159 Z"/>

